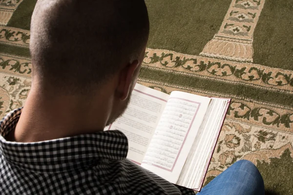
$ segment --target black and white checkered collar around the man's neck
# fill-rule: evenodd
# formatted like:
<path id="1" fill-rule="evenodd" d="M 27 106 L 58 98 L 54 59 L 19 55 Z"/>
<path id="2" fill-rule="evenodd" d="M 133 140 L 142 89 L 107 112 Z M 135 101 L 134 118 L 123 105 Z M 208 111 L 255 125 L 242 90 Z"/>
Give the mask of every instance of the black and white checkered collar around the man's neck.
<path id="1" fill-rule="evenodd" d="M 15 109 L 0 121 L 0 155 L 14 166 L 35 172 L 63 172 L 127 156 L 127 138 L 117 130 L 40 142 L 7 141 L 4 137 L 15 129 L 21 111 Z"/>

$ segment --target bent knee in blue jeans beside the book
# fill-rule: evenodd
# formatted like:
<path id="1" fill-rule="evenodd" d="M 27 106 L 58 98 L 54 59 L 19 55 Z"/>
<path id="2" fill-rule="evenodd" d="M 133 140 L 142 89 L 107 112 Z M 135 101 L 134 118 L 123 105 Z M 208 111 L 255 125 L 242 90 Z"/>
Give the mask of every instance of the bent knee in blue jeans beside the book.
<path id="1" fill-rule="evenodd" d="M 215 177 L 197 195 L 264 195 L 264 180 L 255 165 L 239 160 Z"/>

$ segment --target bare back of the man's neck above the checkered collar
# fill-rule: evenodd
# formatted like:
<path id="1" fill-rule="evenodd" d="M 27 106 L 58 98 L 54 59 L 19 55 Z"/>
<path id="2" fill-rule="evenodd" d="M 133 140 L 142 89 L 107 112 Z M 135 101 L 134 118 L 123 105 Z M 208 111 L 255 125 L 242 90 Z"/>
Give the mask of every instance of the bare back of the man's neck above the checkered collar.
<path id="1" fill-rule="evenodd" d="M 111 108 L 109 98 L 103 97 L 53 97 L 31 88 L 16 129 L 7 139 L 37 142 L 103 131 Z"/>

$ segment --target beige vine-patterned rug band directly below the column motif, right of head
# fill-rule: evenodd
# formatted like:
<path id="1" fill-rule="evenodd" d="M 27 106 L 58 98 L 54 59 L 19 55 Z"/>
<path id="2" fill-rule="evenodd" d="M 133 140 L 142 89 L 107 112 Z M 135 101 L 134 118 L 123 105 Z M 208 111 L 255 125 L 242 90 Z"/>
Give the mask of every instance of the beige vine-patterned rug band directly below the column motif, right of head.
<path id="1" fill-rule="evenodd" d="M 145 67 L 293 94 L 293 86 L 292 83 L 290 84 L 293 82 L 293 71 L 291 70 L 192 56 L 160 49 L 147 48 L 146 52 Z M 205 64 L 205 67 L 202 64 Z"/>

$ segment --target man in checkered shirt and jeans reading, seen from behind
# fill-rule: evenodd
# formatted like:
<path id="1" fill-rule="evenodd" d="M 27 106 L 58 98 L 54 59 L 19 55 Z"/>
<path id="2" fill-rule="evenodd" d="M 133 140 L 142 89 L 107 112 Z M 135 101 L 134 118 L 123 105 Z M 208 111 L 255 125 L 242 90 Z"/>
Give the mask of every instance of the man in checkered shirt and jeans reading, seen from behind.
<path id="1" fill-rule="evenodd" d="M 127 138 L 103 129 L 126 109 L 144 59 L 143 0 L 38 0 L 32 86 L 0 122 L 1 195 L 194 194 L 126 159 Z M 264 194 L 238 161 L 200 194 Z"/>

